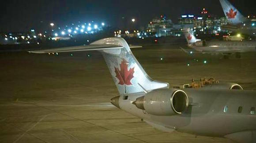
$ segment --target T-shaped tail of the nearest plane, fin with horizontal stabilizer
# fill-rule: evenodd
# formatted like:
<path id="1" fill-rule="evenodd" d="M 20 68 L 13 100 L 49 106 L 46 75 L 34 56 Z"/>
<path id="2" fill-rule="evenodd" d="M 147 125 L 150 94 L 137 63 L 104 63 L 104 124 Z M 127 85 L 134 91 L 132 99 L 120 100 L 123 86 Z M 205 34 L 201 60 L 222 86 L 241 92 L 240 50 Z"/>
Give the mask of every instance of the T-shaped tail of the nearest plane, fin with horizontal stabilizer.
<path id="1" fill-rule="evenodd" d="M 166 82 L 151 79 L 132 54 L 128 43 L 122 38 L 106 38 L 87 46 L 74 46 L 49 50 L 29 51 L 30 53 L 55 53 L 98 50 L 102 53 L 119 93 L 140 93 L 169 88 Z"/>

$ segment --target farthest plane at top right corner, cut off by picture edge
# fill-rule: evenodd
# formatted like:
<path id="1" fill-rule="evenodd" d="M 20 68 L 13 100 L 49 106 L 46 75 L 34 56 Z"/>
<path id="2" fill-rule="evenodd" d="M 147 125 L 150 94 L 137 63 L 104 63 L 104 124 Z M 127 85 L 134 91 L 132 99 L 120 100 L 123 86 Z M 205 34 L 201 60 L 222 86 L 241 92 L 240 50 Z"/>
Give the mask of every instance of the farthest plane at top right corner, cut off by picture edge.
<path id="1" fill-rule="evenodd" d="M 222 6 L 223 12 L 228 20 L 227 25 L 222 25 L 221 28 L 233 31 L 241 32 L 248 36 L 255 36 L 256 34 L 256 21 L 250 21 L 246 19 L 236 7 L 234 7 L 228 0 L 219 0 Z"/>

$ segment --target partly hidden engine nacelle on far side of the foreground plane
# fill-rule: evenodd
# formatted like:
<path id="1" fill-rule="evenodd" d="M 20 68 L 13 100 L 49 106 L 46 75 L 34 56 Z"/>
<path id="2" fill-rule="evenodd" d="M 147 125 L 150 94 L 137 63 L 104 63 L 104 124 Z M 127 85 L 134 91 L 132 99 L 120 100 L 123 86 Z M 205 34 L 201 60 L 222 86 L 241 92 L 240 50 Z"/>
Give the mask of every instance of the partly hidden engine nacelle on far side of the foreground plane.
<path id="1" fill-rule="evenodd" d="M 204 86 L 203 88 L 215 88 L 215 89 L 237 89 L 237 90 L 243 90 L 242 86 L 240 86 L 237 83 L 216 83 L 212 85 Z"/>

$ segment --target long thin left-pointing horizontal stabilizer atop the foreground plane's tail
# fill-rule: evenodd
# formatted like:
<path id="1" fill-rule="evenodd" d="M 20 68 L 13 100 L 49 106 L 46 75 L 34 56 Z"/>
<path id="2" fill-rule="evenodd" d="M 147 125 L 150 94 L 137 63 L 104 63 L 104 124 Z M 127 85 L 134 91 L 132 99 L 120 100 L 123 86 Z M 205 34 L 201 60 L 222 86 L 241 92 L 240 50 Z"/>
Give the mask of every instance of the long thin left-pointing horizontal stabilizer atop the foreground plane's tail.
<path id="1" fill-rule="evenodd" d="M 98 44 L 98 45 L 69 46 L 69 47 L 63 47 L 63 48 L 34 50 L 34 51 L 28 51 L 28 52 L 43 54 L 43 53 L 77 52 L 77 51 L 87 51 L 87 50 L 109 50 L 109 49 L 121 49 L 121 48 L 123 47 L 118 45 Z"/>

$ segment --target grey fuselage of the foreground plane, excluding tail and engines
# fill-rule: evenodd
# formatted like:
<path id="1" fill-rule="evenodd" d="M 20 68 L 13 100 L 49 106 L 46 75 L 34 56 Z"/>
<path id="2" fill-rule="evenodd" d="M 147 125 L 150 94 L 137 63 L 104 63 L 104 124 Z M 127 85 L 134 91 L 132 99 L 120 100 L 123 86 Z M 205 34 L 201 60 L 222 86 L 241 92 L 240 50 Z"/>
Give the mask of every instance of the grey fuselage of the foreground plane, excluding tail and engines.
<path id="1" fill-rule="evenodd" d="M 120 96 L 119 106 L 148 123 L 179 132 L 226 136 L 234 132 L 256 131 L 256 115 L 251 111 L 256 107 L 255 92 L 225 89 L 184 89 L 184 92 L 188 95 L 189 105 L 182 114 L 159 116 L 138 109 L 132 102 L 138 97 L 147 96 L 146 93 L 128 95 L 127 100 Z"/>

